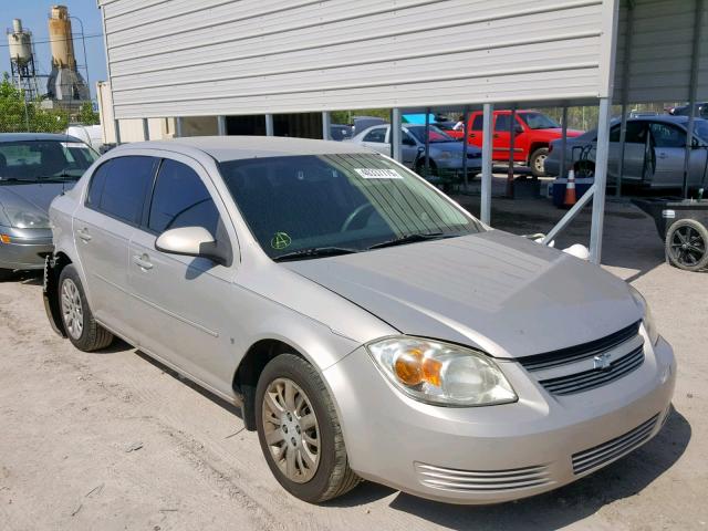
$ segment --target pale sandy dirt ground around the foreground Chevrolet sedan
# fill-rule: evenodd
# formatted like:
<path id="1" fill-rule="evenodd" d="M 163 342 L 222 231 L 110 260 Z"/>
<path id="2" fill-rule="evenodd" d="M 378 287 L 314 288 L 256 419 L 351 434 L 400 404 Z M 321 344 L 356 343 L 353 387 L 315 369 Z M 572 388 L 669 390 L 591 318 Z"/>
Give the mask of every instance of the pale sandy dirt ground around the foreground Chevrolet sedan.
<path id="1" fill-rule="evenodd" d="M 476 200 L 458 199 L 477 212 Z M 494 199 L 492 223 L 548 230 L 561 211 Z M 589 214 L 559 240 L 586 242 Z M 119 343 L 86 354 L 51 331 L 41 281 L 0 283 L 0 530 L 708 529 L 708 273 L 664 263 L 650 219 L 608 204 L 604 262 L 648 299 L 679 374 L 664 430 L 571 486 L 458 507 L 363 483 L 315 507 L 271 477 L 237 412 Z"/>

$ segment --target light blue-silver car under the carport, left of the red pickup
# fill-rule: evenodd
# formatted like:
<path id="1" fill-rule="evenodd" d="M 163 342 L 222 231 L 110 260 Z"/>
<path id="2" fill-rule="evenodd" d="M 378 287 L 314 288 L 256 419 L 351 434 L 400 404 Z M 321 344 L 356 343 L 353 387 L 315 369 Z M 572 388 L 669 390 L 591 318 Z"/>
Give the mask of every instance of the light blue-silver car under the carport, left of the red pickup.
<path id="1" fill-rule="evenodd" d="M 425 173 L 425 125 L 407 125 L 402 127 L 403 164 L 418 175 Z M 461 142 L 450 137 L 438 127 L 429 126 L 428 171 L 431 183 L 459 180 L 462 175 L 465 147 Z M 355 135 L 351 140 L 374 149 L 383 155 L 391 154 L 391 126 L 377 125 Z M 475 177 L 482 170 L 482 152 L 479 147 L 467 146 L 467 174 Z"/>

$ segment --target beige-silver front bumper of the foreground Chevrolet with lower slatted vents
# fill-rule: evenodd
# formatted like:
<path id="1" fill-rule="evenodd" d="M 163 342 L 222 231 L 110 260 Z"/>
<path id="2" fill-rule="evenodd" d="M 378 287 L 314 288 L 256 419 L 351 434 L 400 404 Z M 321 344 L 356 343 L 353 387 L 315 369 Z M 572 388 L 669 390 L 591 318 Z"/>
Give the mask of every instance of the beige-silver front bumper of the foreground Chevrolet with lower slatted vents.
<path id="1" fill-rule="evenodd" d="M 645 361 L 633 373 L 569 396 L 548 394 L 513 361 L 499 365 L 519 402 L 477 408 L 431 406 L 404 396 L 363 347 L 324 371 L 352 469 L 452 503 L 538 494 L 592 473 L 655 436 L 676 378 L 674 354 L 663 339 L 645 346 Z"/>

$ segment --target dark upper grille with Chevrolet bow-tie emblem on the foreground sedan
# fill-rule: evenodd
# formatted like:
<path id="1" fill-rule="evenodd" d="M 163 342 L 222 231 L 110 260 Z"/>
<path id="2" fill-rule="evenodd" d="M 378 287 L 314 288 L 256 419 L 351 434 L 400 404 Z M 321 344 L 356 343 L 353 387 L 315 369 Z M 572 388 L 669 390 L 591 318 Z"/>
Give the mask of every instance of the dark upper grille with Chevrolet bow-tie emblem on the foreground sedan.
<path id="1" fill-rule="evenodd" d="M 639 324 L 571 348 L 521 357 L 519 363 L 554 395 L 591 391 L 626 376 L 644 363 Z"/>

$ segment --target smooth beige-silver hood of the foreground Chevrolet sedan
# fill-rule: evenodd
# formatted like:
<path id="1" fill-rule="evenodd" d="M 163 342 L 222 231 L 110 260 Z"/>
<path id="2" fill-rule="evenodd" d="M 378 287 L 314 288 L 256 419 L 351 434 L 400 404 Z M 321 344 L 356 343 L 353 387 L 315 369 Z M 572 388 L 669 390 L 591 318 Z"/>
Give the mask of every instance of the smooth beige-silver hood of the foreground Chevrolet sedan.
<path id="1" fill-rule="evenodd" d="M 404 334 L 497 357 L 574 346 L 642 319 L 622 280 L 498 230 L 283 266 Z"/>

